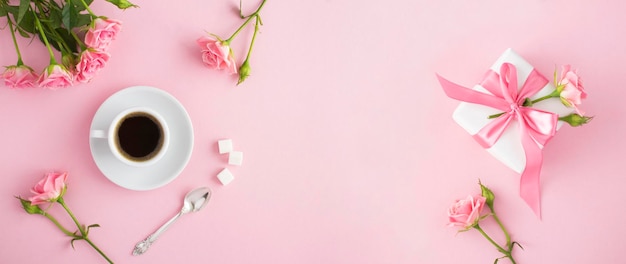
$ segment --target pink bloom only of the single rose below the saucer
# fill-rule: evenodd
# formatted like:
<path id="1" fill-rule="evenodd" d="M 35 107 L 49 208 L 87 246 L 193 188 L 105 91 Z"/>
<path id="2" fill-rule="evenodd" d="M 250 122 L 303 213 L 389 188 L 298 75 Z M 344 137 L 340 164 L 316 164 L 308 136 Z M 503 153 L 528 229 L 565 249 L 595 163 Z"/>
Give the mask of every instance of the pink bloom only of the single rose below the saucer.
<path id="1" fill-rule="evenodd" d="M 32 205 L 56 202 L 60 197 L 65 194 L 65 181 L 67 180 L 67 172 L 56 173 L 50 172 L 44 175 L 37 185 L 35 185 L 30 191 L 34 194 L 28 198 Z"/>

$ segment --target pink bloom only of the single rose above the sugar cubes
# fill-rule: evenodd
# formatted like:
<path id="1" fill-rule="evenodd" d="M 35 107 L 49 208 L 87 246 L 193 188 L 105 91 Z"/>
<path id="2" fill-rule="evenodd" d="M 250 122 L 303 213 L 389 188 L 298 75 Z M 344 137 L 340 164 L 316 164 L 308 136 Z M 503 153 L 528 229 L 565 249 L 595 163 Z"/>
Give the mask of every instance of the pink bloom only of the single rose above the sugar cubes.
<path id="1" fill-rule="evenodd" d="M 237 73 L 237 63 L 228 44 L 206 36 L 196 42 L 202 50 L 204 65 L 216 70 L 227 69 L 230 74 Z"/>

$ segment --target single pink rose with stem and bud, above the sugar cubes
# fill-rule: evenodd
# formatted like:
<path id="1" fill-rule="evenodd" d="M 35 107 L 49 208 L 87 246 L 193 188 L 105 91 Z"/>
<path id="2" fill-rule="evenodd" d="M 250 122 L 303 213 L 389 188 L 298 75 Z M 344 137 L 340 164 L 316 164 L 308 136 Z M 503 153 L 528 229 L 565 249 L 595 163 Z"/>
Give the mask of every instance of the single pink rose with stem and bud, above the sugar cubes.
<path id="1" fill-rule="evenodd" d="M 261 12 L 261 9 L 265 5 L 265 1 L 266 0 L 263 0 L 257 10 L 248 16 L 243 15 L 241 1 L 239 2 L 239 16 L 245 20 L 229 38 L 224 40 L 215 34 L 209 33 L 210 36 L 203 36 L 196 40 L 196 43 L 200 46 L 204 65 L 215 70 L 226 70 L 229 74 L 239 73 L 237 85 L 241 84 L 250 76 L 250 54 L 252 53 L 252 47 L 254 46 L 259 26 L 263 25 L 259 12 Z M 250 46 L 248 47 L 248 54 L 246 55 L 246 59 L 241 63 L 241 66 L 237 67 L 235 55 L 230 48 L 230 43 L 253 19 L 254 33 L 250 41 Z"/>

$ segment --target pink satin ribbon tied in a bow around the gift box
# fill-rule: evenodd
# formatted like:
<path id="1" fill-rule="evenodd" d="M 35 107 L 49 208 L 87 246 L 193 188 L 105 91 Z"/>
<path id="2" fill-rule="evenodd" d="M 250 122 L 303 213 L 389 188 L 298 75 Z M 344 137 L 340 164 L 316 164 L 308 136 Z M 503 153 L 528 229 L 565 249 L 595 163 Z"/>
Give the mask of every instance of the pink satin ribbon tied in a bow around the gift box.
<path id="1" fill-rule="evenodd" d="M 533 69 L 518 91 L 517 69 L 510 63 L 502 64 L 500 74 L 490 70 L 480 83 L 491 94 L 460 86 L 439 75 L 437 78 L 448 97 L 489 106 L 504 112 L 474 135 L 474 139 L 484 148 L 493 146 L 511 121 L 517 120 L 522 135 L 522 147 L 526 156 L 526 166 L 520 177 L 520 196 L 541 218 L 539 188 L 539 176 L 543 163 L 541 147 L 548 143 L 556 133 L 559 116 L 555 113 L 525 107 L 522 104 L 526 98 L 539 92 L 548 83 L 548 80 Z"/>

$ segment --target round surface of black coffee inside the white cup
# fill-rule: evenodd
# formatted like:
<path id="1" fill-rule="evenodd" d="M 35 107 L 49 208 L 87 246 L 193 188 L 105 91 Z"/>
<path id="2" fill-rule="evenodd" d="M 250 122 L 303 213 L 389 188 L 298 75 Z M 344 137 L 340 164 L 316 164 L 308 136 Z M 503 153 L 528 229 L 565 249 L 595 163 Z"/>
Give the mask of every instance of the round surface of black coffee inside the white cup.
<path id="1" fill-rule="evenodd" d="M 159 122 L 144 112 L 124 117 L 117 127 L 117 147 L 133 161 L 153 158 L 163 146 L 163 129 Z"/>

